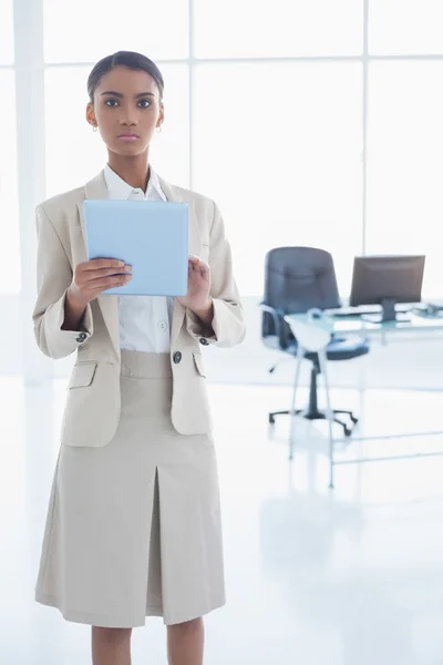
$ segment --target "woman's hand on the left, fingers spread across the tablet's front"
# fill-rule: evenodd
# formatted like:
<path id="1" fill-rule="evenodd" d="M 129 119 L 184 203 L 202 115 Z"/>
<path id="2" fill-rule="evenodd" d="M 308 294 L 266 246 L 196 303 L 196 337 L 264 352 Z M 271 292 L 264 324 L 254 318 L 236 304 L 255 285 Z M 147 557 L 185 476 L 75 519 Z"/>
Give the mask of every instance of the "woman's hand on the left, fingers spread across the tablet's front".
<path id="1" fill-rule="evenodd" d="M 112 258 L 85 260 L 75 267 L 69 288 L 71 299 L 86 307 L 103 291 L 126 285 L 132 279 L 131 269 L 123 260 Z"/>

